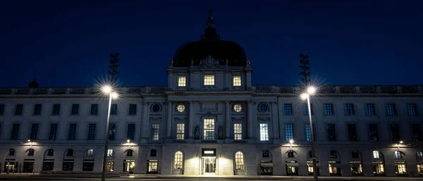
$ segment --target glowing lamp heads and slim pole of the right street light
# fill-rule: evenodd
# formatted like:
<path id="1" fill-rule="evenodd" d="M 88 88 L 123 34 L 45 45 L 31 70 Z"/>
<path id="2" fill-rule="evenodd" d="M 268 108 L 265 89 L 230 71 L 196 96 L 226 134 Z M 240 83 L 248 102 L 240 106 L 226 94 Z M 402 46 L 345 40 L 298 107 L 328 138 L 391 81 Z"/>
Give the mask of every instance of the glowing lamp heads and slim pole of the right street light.
<path id="1" fill-rule="evenodd" d="M 316 166 L 316 152 L 314 151 L 314 130 L 312 122 L 312 108 L 310 106 L 310 95 L 316 93 L 315 87 L 307 87 L 307 92 L 301 94 L 301 99 L 307 99 L 308 115 L 309 115 L 309 127 L 310 127 L 310 141 L 312 142 L 312 158 L 313 158 L 313 175 L 314 180 L 317 180 L 317 166 Z"/>

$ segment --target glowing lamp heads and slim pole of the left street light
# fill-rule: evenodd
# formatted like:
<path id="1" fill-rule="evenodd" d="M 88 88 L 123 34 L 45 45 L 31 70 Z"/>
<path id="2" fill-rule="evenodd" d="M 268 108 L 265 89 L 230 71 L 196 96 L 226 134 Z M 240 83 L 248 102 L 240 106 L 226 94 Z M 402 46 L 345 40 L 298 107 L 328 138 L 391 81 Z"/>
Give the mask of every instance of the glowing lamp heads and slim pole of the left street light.
<path id="1" fill-rule="evenodd" d="M 107 148 L 109 147 L 109 120 L 111 110 L 111 99 L 118 98 L 118 93 L 113 92 L 113 88 L 109 85 L 102 87 L 102 92 L 109 95 L 109 108 L 107 111 L 107 122 L 106 122 L 106 139 L 104 142 L 104 155 L 103 155 L 103 169 L 102 169 L 102 181 L 106 180 L 106 161 L 107 161 Z"/>

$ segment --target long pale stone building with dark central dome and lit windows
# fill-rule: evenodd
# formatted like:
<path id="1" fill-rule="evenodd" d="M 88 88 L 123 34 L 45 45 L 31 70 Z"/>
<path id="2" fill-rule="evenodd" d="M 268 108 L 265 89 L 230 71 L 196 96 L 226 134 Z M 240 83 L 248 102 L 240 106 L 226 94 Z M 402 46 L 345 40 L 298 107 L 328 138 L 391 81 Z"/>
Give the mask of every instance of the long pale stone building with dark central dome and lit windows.
<path id="1" fill-rule="evenodd" d="M 252 85 L 242 47 L 207 25 L 200 41 L 176 51 L 167 86 L 118 87 L 107 170 L 312 174 L 302 87 Z M 320 175 L 423 175 L 421 85 L 318 92 L 311 113 Z M 1 88 L 1 172 L 101 172 L 107 101 L 95 87 Z"/>

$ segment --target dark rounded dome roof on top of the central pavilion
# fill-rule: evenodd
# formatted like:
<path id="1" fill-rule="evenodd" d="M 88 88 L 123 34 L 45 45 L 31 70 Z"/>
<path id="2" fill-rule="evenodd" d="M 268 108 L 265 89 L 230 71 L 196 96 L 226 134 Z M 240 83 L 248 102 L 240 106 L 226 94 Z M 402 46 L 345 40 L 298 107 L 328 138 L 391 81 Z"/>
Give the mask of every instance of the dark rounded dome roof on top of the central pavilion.
<path id="1" fill-rule="evenodd" d="M 219 60 L 220 65 L 245 66 L 247 58 L 243 47 L 231 41 L 223 41 L 216 34 L 216 29 L 207 28 L 200 41 L 188 42 L 178 48 L 173 56 L 173 66 L 189 67 L 191 61 L 199 65 L 200 60 L 212 56 Z"/>

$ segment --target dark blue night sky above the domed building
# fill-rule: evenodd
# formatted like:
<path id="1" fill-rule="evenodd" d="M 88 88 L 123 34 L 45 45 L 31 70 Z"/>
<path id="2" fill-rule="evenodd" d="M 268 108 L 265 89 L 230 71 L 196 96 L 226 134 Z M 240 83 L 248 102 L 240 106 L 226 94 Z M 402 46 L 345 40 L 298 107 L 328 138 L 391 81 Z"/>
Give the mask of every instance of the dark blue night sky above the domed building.
<path id="1" fill-rule="evenodd" d="M 119 52 L 122 86 L 166 85 L 180 44 L 214 8 L 253 84 L 298 85 L 298 54 L 326 85 L 422 84 L 421 1 L 1 1 L 0 87 L 85 87 Z"/>

